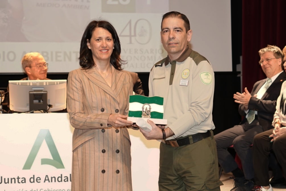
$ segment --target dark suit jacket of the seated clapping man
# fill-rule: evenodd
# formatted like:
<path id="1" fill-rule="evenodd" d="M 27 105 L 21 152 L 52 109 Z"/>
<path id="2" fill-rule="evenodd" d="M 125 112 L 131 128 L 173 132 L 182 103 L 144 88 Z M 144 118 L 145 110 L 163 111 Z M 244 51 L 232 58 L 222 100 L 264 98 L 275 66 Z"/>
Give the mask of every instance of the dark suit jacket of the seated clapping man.
<path id="1" fill-rule="evenodd" d="M 265 94 L 258 99 L 254 97 L 259 91 L 262 85 L 266 82 L 266 79 L 260 80 L 253 85 L 251 91 L 251 98 L 249 100 L 248 109 L 257 111 L 257 118 L 259 124 L 262 126 L 263 131 L 273 128 L 272 121 L 273 115 L 276 111 L 276 100 L 280 95 L 280 90 L 282 83 L 286 80 L 286 73 L 282 72 L 275 81 L 269 86 Z M 239 105 L 239 113 L 242 116 L 246 116 L 244 112 L 243 105 Z M 244 118 L 241 124 L 245 123 L 247 120 Z"/>

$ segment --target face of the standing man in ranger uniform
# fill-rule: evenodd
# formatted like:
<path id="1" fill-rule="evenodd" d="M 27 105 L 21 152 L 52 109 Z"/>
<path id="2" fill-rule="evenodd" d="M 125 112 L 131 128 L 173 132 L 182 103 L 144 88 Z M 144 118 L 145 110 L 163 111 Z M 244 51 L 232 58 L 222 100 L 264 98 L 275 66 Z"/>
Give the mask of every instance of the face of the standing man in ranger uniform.
<path id="1" fill-rule="evenodd" d="M 162 22 L 161 42 L 171 60 L 176 60 L 192 38 L 192 30 L 186 32 L 184 20 L 168 17 Z"/>

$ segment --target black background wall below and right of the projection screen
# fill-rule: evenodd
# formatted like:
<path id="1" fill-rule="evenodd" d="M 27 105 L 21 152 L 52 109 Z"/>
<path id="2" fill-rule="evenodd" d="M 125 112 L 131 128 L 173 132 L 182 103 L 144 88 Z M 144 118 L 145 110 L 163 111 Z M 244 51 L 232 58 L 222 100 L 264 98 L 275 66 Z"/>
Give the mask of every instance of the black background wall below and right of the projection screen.
<path id="1" fill-rule="evenodd" d="M 238 114 L 238 104 L 235 103 L 233 99 L 234 93 L 241 92 L 240 72 L 236 70 L 237 64 L 240 64 L 240 56 L 242 53 L 241 22 L 242 1 L 231 0 L 233 72 L 215 72 L 215 94 L 212 112 L 213 121 L 216 126 L 214 130 L 215 134 L 235 124 L 239 124 L 241 120 L 241 116 Z M 224 57 L 223 53 L 217 56 L 221 57 L 221 59 Z M 144 92 L 148 95 L 149 73 L 138 73 L 138 75 L 142 81 Z M 47 78 L 67 79 L 67 76 L 68 73 L 48 73 Z M 24 77 L 26 77 L 26 75 L 22 73 L 0 73 L 0 90 L 7 91 L 9 80 L 20 80 Z M 7 109 L 7 106 L 4 105 L 3 108 Z"/>

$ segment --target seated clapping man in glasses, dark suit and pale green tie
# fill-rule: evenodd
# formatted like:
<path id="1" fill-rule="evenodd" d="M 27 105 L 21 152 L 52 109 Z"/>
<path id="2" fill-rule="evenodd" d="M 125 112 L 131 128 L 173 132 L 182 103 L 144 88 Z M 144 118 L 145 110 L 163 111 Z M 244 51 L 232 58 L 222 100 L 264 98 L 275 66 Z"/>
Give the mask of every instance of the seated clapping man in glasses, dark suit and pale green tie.
<path id="1" fill-rule="evenodd" d="M 254 170 L 251 144 L 255 135 L 272 127 L 273 115 L 276 110 L 276 100 L 280 94 L 286 74 L 283 72 L 283 53 L 279 47 L 268 45 L 259 50 L 259 64 L 267 79 L 256 82 L 251 93 L 234 94 L 235 102 L 239 103 L 239 113 L 245 118 L 232 128 L 217 135 L 217 154 L 219 164 L 226 173 L 232 172 L 235 177 L 235 187 L 231 190 L 251 190 L 254 186 Z M 243 171 L 240 170 L 233 156 L 227 151 L 233 145 L 241 159 Z"/>

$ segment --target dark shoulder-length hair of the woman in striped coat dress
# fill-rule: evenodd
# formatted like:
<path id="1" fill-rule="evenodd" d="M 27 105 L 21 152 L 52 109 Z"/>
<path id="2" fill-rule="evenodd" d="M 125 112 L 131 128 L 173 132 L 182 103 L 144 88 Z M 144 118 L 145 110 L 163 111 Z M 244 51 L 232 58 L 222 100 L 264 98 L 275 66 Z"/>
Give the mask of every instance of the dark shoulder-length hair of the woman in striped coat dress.
<path id="1" fill-rule="evenodd" d="M 84 30 L 84 34 L 82 35 L 82 40 L 80 43 L 80 66 L 83 69 L 90 69 L 93 66 L 96 66 L 96 63 L 94 63 L 93 57 L 92 57 L 92 51 L 87 46 L 87 39 L 90 42 L 90 39 L 92 37 L 92 33 L 96 28 L 104 28 L 108 30 L 113 38 L 114 41 L 114 49 L 110 57 L 110 63 L 114 66 L 117 70 L 122 70 L 121 65 L 125 64 L 125 61 L 120 59 L 120 53 L 121 53 L 121 47 L 120 47 L 120 41 L 119 37 L 116 33 L 116 30 L 114 27 L 108 22 L 104 20 L 100 21 L 91 21 L 86 29 Z"/>

